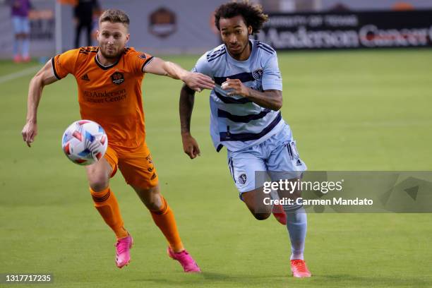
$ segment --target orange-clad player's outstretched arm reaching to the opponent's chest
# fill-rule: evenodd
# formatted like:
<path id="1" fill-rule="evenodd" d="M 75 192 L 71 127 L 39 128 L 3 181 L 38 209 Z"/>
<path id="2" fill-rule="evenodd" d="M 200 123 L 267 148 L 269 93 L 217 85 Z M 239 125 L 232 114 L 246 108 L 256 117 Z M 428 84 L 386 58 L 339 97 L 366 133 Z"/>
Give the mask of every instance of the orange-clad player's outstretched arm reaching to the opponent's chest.
<path id="1" fill-rule="evenodd" d="M 157 57 L 154 57 L 148 64 L 144 66 L 143 72 L 180 79 L 192 90 L 198 92 L 203 89 L 215 88 L 215 82 L 209 76 L 201 73 L 186 71 L 178 64 L 164 61 Z"/>

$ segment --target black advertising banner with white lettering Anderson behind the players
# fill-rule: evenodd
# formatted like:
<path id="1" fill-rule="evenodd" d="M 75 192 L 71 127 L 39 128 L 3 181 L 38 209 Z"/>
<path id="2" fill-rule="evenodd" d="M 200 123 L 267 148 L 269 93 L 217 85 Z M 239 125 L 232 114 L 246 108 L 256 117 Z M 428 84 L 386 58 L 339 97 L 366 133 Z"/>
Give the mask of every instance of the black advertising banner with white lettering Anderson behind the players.
<path id="1" fill-rule="evenodd" d="M 432 47 L 432 10 L 273 13 L 256 39 L 275 49 Z"/>

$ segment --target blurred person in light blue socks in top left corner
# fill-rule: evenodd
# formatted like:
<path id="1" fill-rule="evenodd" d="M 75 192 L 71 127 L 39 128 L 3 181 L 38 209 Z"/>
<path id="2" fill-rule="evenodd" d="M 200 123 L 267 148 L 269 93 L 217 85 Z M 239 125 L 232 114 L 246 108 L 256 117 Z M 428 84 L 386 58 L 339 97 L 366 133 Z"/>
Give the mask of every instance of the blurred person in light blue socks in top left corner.
<path id="1" fill-rule="evenodd" d="M 32 7 L 30 0 L 7 0 L 11 6 L 13 23 L 13 61 L 30 61 L 30 22 L 28 13 Z"/>

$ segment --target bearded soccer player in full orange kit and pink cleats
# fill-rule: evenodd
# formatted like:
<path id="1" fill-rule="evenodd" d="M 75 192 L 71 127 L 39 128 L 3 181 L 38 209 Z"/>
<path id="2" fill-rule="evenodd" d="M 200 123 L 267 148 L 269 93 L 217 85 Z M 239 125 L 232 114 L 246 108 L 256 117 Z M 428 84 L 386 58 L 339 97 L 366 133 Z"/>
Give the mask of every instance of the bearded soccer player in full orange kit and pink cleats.
<path id="1" fill-rule="evenodd" d="M 109 139 L 104 157 L 85 169 L 95 208 L 116 234 L 117 267 L 129 263 L 129 249 L 133 244 L 109 188 L 109 179 L 118 168 L 167 239 L 169 257 L 178 260 L 185 272 L 200 272 L 181 243 L 174 214 L 160 194 L 157 173 L 145 143 L 141 82 L 144 73 L 152 73 L 180 79 L 196 91 L 212 89 L 214 83 L 203 74 L 188 72 L 174 63 L 126 48 L 130 37 L 128 25 L 129 18 L 123 11 L 104 11 L 97 31 L 99 47 L 81 47 L 56 55 L 37 72 L 30 81 L 23 140 L 30 147 L 37 135 L 37 106 L 44 86 L 68 74 L 75 76 L 81 118 L 99 123 Z"/>

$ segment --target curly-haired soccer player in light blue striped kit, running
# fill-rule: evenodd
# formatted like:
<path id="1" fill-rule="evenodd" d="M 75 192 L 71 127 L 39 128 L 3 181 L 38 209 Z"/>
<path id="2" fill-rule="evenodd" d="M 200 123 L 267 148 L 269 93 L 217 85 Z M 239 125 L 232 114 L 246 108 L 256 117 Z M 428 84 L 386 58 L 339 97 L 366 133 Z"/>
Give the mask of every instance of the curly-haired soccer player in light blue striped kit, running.
<path id="1" fill-rule="evenodd" d="M 218 152 L 227 148 L 229 172 L 240 198 L 258 220 L 267 219 L 272 206 L 264 203 L 268 195 L 263 186 L 257 186 L 262 182 L 256 179 L 256 172 L 267 172 L 272 181 L 283 177 L 296 181 L 306 170 L 279 111 L 282 78 L 276 52 L 268 44 L 249 39 L 267 19 L 260 6 L 247 1 L 217 8 L 215 24 L 224 44 L 206 52 L 194 68 L 215 80 L 216 87 L 210 92 L 212 141 Z M 191 159 L 200 154 L 190 133 L 194 95 L 186 85 L 181 89 L 181 136 L 184 152 Z M 294 198 L 299 193 L 295 191 Z M 279 220 L 286 223 L 291 240 L 292 273 L 311 277 L 303 256 L 306 212 L 302 205 L 284 205 L 284 211 L 286 219 Z"/>

